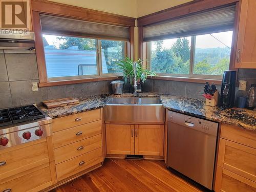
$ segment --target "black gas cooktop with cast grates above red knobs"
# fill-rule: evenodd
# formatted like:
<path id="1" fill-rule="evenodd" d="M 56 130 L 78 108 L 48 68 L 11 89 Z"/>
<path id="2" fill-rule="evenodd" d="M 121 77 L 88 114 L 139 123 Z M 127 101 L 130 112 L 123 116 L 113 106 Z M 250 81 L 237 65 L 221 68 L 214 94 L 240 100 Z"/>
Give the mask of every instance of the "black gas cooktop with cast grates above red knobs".
<path id="1" fill-rule="evenodd" d="M 0 109 L 0 127 L 45 117 L 46 115 L 33 104 Z"/>

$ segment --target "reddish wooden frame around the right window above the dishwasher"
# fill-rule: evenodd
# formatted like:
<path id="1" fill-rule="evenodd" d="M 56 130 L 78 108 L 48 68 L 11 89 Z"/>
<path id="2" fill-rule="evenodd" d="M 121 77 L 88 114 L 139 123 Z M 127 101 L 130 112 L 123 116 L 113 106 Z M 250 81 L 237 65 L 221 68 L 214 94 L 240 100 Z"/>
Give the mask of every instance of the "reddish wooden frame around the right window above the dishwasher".
<path id="1" fill-rule="evenodd" d="M 236 15 L 234 19 L 234 26 L 233 26 L 233 37 L 232 37 L 232 46 L 231 46 L 231 53 L 230 53 L 230 65 L 229 70 L 236 70 L 234 68 L 234 61 L 236 57 L 236 44 L 237 44 L 237 37 L 238 37 L 238 26 L 239 26 L 239 15 L 240 15 L 240 7 L 241 2 L 239 0 L 194 0 L 192 2 L 188 2 L 185 4 L 181 4 L 169 9 L 165 9 L 156 13 L 152 13 L 149 15 L 145 15 L 142 17 L 137 18 L 138 20 L 138 28 L 139 28 L 139 57 L 147 59 L 149 56 L 148 51 L 143 49 L 148 49 L 148 45 L 143 42 L 143 27 L 157 24 L 163 22 L 164 20 L 173 19 L 177 17 L 186 16 L 188 14 L 193 14 L 199 11 L 207 11 L 212 8 L 217 8 L 221 6 L 227 5 L 236 5 Z M 145 54 L 146 53 L 146 54 Z M 150 68 L 148 63 L 146 63 L 147 68 Z M 193 70 L 193 69 L 189 69 Z M 216 84 L 221 84 L 221 80 L 212 79 L 210 76 L 202 78 L 201 76 L 198 77 L 181 77 L 181 76 L 164 76 L 164 74 L 158 76 L 152 76 L 152 79 L 161 79 L 161 80 L 174 80 L 174 81 L 185 81 L 185 82 L 196 82 L 196 83 L 205 83 L 205 81 L 215 82 Z"/>

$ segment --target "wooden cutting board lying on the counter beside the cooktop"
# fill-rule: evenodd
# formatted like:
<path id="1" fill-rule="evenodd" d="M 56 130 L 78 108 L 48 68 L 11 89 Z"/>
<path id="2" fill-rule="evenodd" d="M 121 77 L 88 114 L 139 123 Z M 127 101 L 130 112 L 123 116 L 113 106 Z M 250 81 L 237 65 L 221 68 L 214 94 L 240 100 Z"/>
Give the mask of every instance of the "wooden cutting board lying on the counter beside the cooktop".
<path id="1" fill-rule="evenodd" d="M 48 101 L 42 101 L 47 109 L 56 108 L 58 106 L 67 106 L 72 104 L 78 104 L 80 101 L 74 98 L 63 98 L 63 99 L 53 99 Z"/>

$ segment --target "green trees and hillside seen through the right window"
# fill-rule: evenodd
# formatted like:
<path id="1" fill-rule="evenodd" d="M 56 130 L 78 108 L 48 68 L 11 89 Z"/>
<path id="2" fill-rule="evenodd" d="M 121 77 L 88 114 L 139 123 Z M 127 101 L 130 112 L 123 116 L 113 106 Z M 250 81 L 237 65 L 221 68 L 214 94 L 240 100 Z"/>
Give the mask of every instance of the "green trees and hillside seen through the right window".
<path id="1" fill-rule="evenodd" d="M 155 41 L 152 70 L 157 73 L 189 74 L 189 40 L 178 38 L 170 49 L 162 49 L 163 41 Z M 225 48 L 196 49 L 194 74 L 223 75 L 229 68 L 230 50 Z"/>

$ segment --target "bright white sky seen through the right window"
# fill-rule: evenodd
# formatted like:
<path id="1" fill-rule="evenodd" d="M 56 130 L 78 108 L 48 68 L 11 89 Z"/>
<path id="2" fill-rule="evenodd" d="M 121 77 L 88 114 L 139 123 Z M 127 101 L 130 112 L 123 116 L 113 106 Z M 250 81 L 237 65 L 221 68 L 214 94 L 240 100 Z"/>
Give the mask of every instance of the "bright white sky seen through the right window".
<path id="1" fill-rule="evenodd" d="M 229 49 L 231 48 L 231 43 L 232 43 L 232 31 L 227 31 L 227 32 L 221 32 L 221 33 L 212 33 L 211 35 L 214 36 L 212 37 L 210 34 L 206 35 L 198 35 L 196 38 L 196 48 L 225 48 Z M 217 39 L 218 40 L 217 40 Z M 190 37 L 187 37 L 189 41 L 191 41 Z M 174 42 L 176 42 L 176 39 L 165 39 L 163 40 L 163 48 L 169 49 Z M 229 48 L 227 48 L 229 47 Z M 156 49 L 156 45 L 152 43 L 152 50 Z"/>

